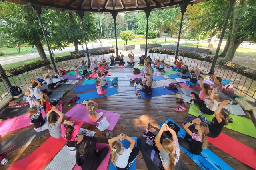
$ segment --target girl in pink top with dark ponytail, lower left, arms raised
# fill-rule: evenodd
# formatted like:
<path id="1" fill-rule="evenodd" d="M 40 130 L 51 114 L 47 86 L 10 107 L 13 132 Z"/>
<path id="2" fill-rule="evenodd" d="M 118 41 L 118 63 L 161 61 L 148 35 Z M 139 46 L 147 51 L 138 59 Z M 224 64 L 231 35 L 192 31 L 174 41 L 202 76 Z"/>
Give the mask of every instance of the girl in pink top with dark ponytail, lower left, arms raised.
<path id="1" fill-rule="evenodd" d="M 66 140 L 66 145 L 68 147 L 75 147 L 76 142 L 75 138 L 78 135 L 80 127 L 78 125 L 75 125 L 71 121 L 64 121 L 61 124 L 61 131 L 62 131 L 62 137 Z"/>

